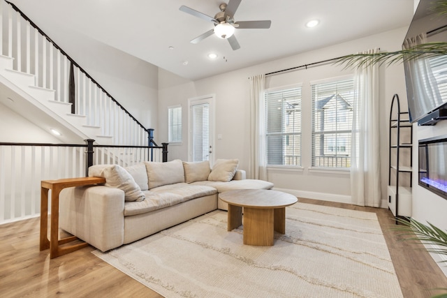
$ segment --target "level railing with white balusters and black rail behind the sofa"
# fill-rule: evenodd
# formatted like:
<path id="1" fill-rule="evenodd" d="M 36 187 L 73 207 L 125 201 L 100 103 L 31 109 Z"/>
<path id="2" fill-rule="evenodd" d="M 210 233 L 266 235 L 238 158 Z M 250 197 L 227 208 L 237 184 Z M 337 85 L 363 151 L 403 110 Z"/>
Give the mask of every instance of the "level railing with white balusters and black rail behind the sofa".
<path id="1" fill-rule="evenodd" d="M 167 161 L 167 146 L 0 142 L 0 225 L 40 216 L 41 181 L 84 177 L 90 165 Z"/>

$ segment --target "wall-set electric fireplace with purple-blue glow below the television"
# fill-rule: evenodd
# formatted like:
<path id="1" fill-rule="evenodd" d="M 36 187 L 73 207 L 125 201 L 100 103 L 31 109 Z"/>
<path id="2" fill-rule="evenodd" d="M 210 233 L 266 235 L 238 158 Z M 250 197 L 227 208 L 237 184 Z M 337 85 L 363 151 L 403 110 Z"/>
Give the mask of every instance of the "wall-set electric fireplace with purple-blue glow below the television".
<path id="1" fill-rule="evenodd" d="M 447 135 L 419 141 L 419 185 L 447 200 Z"/>

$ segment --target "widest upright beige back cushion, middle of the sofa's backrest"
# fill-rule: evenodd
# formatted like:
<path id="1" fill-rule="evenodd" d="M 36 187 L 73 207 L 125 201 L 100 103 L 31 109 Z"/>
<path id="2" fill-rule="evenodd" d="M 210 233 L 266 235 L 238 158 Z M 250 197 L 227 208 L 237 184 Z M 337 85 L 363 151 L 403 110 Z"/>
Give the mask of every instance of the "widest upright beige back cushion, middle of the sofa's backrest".
<path id="1" fill-rule="evenodd" d="M 149 189 L 184 182 L 183 163 L 179 159 L 167 163 L 145 161 Z"/>

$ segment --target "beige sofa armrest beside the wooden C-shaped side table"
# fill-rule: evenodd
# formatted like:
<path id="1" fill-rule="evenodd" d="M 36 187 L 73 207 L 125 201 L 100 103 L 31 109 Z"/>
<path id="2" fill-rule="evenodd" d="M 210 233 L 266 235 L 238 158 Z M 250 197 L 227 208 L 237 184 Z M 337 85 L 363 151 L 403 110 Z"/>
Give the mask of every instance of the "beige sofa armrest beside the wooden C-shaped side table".
<path id="1" fill-rule="evenodd" d="M 124 191 L 108 186 L 66 188 L 59 197 L 59 226 L 101 251 L 124 243 Z"/>

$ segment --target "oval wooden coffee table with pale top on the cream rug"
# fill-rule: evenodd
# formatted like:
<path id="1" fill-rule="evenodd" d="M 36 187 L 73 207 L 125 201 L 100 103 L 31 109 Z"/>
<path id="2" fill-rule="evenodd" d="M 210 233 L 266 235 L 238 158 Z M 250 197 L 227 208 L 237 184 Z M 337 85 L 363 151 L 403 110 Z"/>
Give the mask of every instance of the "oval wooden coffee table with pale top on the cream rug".
<path id="1" fill-rule="evenodd" d="M 228 231 L 242 225 L 244 208 L 244 244 L 272 246 L 273 234 L 286 233 L 286 206 L 295 204 L 294 195 L 265 189 L 240 189 L 219 194 L 228 203 Z"/>

